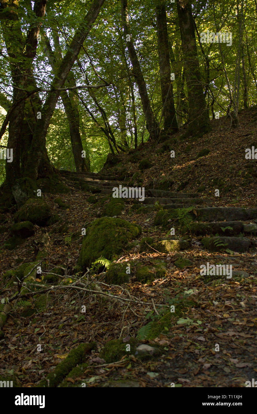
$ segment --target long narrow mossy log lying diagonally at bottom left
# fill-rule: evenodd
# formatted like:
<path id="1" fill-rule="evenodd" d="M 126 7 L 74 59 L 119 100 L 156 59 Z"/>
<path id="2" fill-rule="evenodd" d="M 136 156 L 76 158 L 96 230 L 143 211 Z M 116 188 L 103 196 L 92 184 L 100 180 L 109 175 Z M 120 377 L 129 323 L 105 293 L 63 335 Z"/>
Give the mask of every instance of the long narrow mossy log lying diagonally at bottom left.
<path id="1" fill-rule="evenodd" d="M 94 349 L 96 344 L 80 344 L 77 348 L 72 349 L 67 358 L 59 363 L 57 367 L 47 375 L 47 380 L 40 381 L 38 387 L 57 387 L 57 385 L 75 368 L 78 364 L 85 362 L 87 354 Z"/>

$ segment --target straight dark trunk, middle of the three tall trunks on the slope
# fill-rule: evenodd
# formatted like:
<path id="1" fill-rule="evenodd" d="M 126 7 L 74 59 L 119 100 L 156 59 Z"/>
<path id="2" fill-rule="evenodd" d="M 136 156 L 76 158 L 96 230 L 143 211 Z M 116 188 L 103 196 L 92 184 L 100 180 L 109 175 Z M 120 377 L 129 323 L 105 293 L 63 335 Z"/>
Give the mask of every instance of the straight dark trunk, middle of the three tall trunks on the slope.
<path id="1" fill-rule="evenodd" d="M 177 131 L 177 118 L 173 99 L 173 85 L 170 79 L 170 53 L 165 3 L 156 6 L 160 87 L 163 101 L 164 130 Z"/>

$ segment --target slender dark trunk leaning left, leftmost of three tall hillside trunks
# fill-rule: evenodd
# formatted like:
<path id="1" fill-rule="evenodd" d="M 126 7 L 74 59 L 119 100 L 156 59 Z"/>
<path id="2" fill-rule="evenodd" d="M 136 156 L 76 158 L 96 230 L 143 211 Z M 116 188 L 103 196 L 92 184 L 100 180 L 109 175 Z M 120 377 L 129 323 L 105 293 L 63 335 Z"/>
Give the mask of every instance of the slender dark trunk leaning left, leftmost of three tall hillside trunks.
<path id="1" fill-rule="evenodd" d="M 137 58 L 137 52 L 134 48 L 134 44 L 131 38 L 130 23 L 127 15 L 127 0 L 121 0 L 121 18 L 123 21 L 125 39 L 129 39 L 130 37 L 129 41 L 126 41 L 127 50 L 129 52 L 130 60 L 133 67 L 132 74 L 134 75 L 137 82 L 144 116 L 146 118 L 146 128 L 150 134 L 150 139 L 157 140 L 160 135 L 160 129 L 151 108 L 151 103 L 146 89 L 146 83 L 144 81 L 144 76 L 142 74 L 139 60 Z"/>

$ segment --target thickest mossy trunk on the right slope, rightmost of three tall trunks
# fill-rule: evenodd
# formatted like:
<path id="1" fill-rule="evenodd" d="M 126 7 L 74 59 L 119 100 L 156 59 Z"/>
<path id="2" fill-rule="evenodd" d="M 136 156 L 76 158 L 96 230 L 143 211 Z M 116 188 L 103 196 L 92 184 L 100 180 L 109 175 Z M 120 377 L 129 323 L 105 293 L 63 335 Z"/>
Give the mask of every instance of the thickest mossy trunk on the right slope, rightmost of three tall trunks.
<path id="1" fill-rule="evenodd" d="M 178 0 L 177 12 L 189 100 L 189 128 L 187 133 L 203 135 L 209 132 L 211 128 L 201 84 L 196 36 L 189 0 Z"/>

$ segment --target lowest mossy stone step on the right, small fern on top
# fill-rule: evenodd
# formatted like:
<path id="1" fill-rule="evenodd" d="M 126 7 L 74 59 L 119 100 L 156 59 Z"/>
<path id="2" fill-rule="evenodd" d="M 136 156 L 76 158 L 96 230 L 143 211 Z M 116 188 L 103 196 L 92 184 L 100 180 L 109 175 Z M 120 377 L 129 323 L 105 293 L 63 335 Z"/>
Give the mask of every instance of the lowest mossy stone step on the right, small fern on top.
<path id="1" fill-rule="evenodd" d="M 251 241 L 246 237 L 203 237 L 201 243 L 206 250 L 220 251 L 224 249 L 243 253 L 250 248 Z"/>

